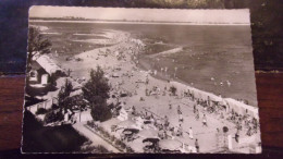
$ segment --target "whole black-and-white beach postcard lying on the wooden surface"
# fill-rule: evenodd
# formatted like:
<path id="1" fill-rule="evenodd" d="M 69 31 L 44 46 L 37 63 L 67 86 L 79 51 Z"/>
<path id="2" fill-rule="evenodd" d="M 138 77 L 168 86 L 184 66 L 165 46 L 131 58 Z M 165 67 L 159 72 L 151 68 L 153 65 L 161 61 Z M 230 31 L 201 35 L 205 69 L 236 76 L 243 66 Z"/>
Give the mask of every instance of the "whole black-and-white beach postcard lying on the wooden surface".
<path id="1" fill-rule="evenodd" d="M 22 152 L 261 154 L 250 25 L 248 9 L 33 5 Z"/>

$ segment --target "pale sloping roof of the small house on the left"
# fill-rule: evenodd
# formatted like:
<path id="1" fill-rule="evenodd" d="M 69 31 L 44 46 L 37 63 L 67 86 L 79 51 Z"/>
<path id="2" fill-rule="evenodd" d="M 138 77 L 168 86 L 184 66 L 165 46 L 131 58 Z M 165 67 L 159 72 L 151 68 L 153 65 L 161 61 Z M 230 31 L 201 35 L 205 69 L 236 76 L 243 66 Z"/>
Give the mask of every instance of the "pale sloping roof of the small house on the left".
<path id="1" fill-rule="evenodd" d="M 57 72 L 63 72 L 48 56 L 40 56 L 36 59 L 36 62 L 49 74 Z"/>

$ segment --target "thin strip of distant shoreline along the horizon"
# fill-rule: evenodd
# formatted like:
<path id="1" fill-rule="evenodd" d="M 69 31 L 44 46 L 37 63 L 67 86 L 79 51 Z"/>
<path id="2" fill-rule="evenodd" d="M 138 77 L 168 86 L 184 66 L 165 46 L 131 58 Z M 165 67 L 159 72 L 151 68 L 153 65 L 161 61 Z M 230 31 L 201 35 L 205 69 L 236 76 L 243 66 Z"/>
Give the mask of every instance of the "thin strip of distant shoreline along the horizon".
<path id="1" fill-rule="evenodd" d="M 232 24 L 232 23 L 185 23 L 185 22 L 175 22 L 175 23 L 168 23 L 168 22 L 122 22 L 122 21 L 89 21 L 89 20 L 78 20 L 78 21 L 74 21 L 74 20 L 28 20 L 28 22 L 39 22 L 39 23 L 44 23 L 44 22 L 50 22 L 50 23 L 99 23 L 99 24 L 162 24 L 162 25 L 224 25 L 224 26 L 249 26 L 249 23 L 243 23 L 243 24 Z"/>

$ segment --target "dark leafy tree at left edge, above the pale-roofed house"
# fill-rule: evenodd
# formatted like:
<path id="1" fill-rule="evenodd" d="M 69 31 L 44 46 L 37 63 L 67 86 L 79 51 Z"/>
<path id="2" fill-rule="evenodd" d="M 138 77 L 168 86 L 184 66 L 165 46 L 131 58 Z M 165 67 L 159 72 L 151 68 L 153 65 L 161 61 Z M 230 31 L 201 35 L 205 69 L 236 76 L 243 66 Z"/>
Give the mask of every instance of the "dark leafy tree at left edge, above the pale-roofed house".
<path id="1" fill-rule="evenodd" d="M 28 27 L 27 63 L 28 66 L 36 53 L 49 53 L 51 41 L 40 34 L 38 27 Z"/>

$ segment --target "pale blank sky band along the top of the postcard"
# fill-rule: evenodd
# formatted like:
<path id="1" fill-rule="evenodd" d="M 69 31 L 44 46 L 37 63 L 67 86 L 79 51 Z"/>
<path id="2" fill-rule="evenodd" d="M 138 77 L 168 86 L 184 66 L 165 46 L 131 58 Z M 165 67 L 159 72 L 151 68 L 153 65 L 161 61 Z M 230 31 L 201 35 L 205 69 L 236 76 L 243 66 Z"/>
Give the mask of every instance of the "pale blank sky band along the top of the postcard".
<path id="1" fill-rule="evenodd" d="M 250 24 L 249 10 L 186 10 L 186 9 L 125 9 L 125 8 L 81 8 L 44 7 L 29 9 L 29 17 L 75 16 L 112 21 L 162 21 L 189 23 L 244 23 Z"/>

